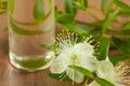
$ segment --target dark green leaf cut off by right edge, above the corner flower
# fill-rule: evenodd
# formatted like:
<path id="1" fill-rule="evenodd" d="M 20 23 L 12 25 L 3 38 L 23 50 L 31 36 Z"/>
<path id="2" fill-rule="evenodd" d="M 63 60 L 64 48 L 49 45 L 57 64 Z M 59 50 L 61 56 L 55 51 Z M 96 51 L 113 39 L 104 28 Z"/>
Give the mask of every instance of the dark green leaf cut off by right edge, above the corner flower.
<path id="1" fill-rule="evenodd" d="M 128 40 L 120 40 L 116 37 L 112 38 L 116 47 L 123 54 L 130 54 L 130 39 Z"/>

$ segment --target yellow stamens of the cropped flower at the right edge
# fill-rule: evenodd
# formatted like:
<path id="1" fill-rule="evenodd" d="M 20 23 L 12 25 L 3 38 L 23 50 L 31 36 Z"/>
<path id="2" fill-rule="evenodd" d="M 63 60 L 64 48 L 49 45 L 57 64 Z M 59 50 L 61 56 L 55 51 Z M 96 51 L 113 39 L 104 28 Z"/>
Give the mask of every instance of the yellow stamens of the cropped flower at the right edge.
<path id="1" fill-rule="evenodd" d="M 116 66 L 115 70 L 117 73 L 117 82 L 130 85 L 130 64 L 126 62 L 120 62 Z"/>

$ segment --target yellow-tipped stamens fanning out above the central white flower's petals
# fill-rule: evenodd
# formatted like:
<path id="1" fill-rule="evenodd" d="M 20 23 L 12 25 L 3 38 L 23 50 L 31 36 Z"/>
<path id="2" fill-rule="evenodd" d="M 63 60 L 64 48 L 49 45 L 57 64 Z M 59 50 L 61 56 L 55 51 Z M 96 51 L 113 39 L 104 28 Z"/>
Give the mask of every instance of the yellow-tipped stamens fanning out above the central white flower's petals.
<path id="1" fill-rule="evenodd" d="M 80 37 L 77 33 L 69 32 L 68 30 L 63 30 L 55 37 L 55 45 L 60 46 L 61 49 L 72 47 L 77 44 L 79 41 L 84 43 L 92 43 L 94 40 L 91 40 L 92 35 L 90 37 Z"/>

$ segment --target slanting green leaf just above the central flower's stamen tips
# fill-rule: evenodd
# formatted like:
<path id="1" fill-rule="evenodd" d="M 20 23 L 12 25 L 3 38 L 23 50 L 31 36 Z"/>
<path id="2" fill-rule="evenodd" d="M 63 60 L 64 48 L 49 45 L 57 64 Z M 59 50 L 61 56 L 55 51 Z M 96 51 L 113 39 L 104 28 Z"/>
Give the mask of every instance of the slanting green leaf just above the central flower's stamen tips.
<path id="1" fill-rule="evenodd" d="M 65 28 L 67 28 L 68 30 L 79 33 L 79 34 L 87 34 L 87 31 L 83 28 L 78 27 L 75 24 L 72 23 L 61 23 L 61 25 L 63 25 Z"/>

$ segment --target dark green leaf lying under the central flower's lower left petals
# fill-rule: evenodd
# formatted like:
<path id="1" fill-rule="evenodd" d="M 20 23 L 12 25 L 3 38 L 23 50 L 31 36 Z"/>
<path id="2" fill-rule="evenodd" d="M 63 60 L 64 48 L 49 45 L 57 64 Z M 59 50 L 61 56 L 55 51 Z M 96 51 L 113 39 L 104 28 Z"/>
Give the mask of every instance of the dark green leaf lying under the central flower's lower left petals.
<path id="1" fill-rule="evenodd" d="M 49 73 L 48 75 L 54 80 L 61 80 L 64 82 L 72 82 L 72 80 L 66 75 L 66 73 L 62 73 L 62 74 Z"/>

